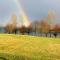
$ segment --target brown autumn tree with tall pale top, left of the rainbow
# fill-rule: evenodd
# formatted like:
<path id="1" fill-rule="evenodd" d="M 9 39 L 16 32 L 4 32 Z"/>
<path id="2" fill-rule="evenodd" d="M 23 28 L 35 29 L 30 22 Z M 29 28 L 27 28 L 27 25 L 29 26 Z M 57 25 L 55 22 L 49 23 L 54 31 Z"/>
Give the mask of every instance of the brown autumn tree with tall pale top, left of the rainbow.
<path id="1" fill-rule="evenodd" d="M 16 15 L 12 15 L 12 23 L 7 24 L 5 27 L 6 32 L 8 33 L 16 33 L 16 25 L 17 25 L 17 16 Z"/>

